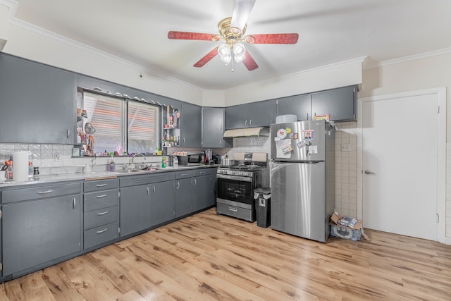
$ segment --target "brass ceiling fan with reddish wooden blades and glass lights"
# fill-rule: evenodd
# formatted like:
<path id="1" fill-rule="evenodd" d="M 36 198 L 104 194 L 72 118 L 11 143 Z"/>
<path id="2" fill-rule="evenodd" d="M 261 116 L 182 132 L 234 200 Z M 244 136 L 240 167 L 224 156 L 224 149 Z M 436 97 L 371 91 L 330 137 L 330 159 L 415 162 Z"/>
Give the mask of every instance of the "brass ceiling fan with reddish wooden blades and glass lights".
<path id="1" fill-rule="evenodd" d="M 224 44 L 214 48 L 202 59 L 194 63 L 194 67 L 202 67 L 216 55 L 221 61 L 228 63 L 235 61 L 242 62 L 249 71 L 259 68 L 252 56 L 246 50 L 244 44 L 296 44 L 299 35 L 297 33 L 276 33 L 263 35 L 247 35 L 246 22 L 254 7 L 255 0 L 236 0 L 232 18 L 225 18 L 218 23 L 219 34 L 209 34 L 201 32 L 168 32 L 169 39 L 196 39 L 203 41 L 225 41 Z M 233 68 L 232 68 L 233 71 Z"/>

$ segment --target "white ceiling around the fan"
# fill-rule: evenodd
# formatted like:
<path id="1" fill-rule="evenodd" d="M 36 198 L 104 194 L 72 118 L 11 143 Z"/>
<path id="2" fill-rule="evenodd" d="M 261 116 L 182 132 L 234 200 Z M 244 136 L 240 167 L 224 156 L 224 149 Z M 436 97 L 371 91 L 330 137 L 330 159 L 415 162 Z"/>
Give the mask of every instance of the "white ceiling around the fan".
<path id="1" fill-rule="evenodd" d="M 202 90 L 228 90 L 367 56 L 371 66 L 451 47 L 449 0 L 257 0 L 247 35 L 299 33 L 295 45 L 253 44 L 259 68 L 230 72 L 221 42 L 168 39 L 169 30 L 218 33 L 235 0 L 18 0 L 16 18 Z"/>

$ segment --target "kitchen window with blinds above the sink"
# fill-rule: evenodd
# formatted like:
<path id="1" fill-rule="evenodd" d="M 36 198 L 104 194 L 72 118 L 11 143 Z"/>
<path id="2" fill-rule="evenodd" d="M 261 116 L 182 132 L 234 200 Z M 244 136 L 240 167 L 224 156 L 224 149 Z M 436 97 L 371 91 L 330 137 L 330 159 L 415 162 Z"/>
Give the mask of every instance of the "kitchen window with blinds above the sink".
<path id="1" fill-rule="evenodd" d="M 156 152 L 160 146 L 160 106 L 85 91 L 83 109 L 84 125 L 95 128 L 90 138 L 97 154 Z"/>

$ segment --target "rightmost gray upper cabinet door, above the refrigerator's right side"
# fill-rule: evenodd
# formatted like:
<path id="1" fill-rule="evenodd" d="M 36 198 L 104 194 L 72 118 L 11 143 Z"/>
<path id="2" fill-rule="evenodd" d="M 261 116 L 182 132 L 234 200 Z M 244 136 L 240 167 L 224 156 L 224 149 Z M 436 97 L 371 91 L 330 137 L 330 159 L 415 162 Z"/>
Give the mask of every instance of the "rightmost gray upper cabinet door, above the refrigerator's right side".
<path id="1" fill-rule="evenodd" d="M 342 87 L 311 94 L 313 116 L 330 113 L 331 121 L 355 121 L 357 116 L 357 88 Z"/>

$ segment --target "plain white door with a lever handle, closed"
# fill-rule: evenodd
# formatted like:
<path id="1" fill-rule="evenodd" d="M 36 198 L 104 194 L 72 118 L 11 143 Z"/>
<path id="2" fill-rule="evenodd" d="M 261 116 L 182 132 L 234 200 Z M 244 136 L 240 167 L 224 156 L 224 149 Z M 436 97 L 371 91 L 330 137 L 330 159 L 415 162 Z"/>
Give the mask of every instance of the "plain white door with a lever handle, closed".
<path id="1" fill-rule="evenodd" d="M 362 103 L 365 228 L 437 240 L 438 96 Z"/>

